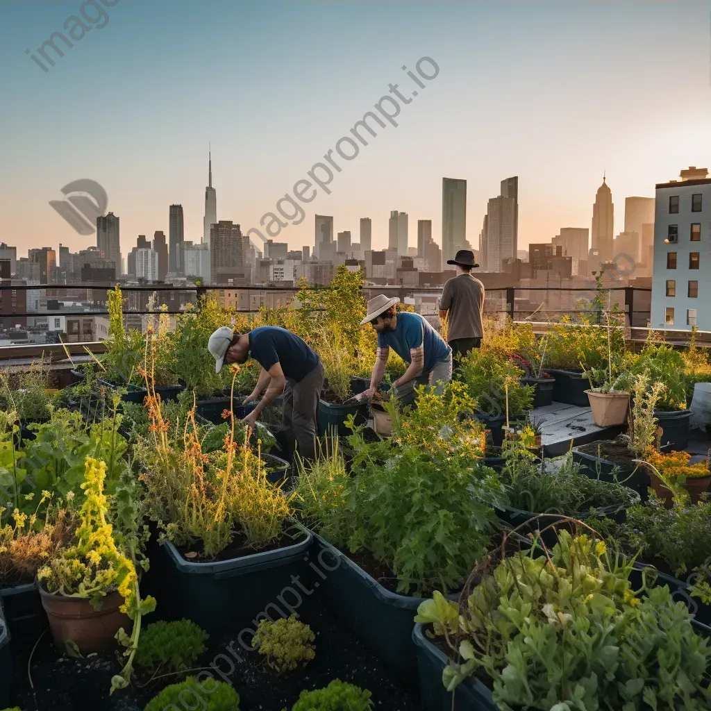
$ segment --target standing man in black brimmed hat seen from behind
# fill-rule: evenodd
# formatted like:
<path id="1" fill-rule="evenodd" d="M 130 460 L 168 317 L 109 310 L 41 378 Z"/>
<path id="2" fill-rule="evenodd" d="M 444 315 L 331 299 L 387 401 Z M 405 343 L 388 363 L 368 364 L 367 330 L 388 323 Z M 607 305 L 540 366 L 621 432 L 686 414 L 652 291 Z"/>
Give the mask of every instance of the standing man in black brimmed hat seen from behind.
<path id="1" fill-rule="evenodd" d="M 456 277 L 449 279 L 439 301 L 439 320 L 447 321 L 447 342 L 452 355 L 459 360 L 472 348 L 481 348 L 481 317 L 484 309 L 484 285 L 475 279 L 471 270 L 474 263 L 471 250 L 459 250 L 453 260 Z"/>

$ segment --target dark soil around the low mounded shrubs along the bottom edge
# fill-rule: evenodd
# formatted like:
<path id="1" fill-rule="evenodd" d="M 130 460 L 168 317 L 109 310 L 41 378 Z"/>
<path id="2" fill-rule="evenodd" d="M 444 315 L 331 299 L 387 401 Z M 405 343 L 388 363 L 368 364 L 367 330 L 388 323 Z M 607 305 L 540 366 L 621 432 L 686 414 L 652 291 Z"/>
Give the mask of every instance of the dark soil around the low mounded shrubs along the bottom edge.
<path id="1" fill-rule="evenodd" d="M 196 667 L 210 671 L 218 680 L 232 683 L 240 694 L 240 711 L 290 709 L 302 690 L 322 688 L 333 679 L 370 690 L 375 709 L 419 710 L 417 691 L 405 688 L 404 683 L 388 673 L 383 663 L 344 631 L 330 613 L 309 606 L 303 609 L 301 621 L 309 624 L 316 635 L 316 658 L 306 668 L 279 675 L 267 666 L 260 654 L 251 648 L 245 650 L 230 636 L 210 640 L 208 652 Z M 142 711 L 162 688 L 183 680 L 182 676 L 174 675 L 140 688 L 139 684 L 146 678 L 141 679 L 138 674 L 128 689 L 109 696 L 112 675 L 121 668 L 117 653 L 88 659 L 59 657 L 47 633 L 32 659 L 33 693 L 28 682 L 27 661 L 35 641 L 27 640 L 15 659 L 13 703 L 24 711 Z M 250 643 L 247 638 L 243 641 Z M 211 664 L 217 670 L 215 666 L 210 669 Z M 193 670 L 193 675 L 197 673 Z M 220 673 L 224 673 L 221 679 L 217 676 Z"/>

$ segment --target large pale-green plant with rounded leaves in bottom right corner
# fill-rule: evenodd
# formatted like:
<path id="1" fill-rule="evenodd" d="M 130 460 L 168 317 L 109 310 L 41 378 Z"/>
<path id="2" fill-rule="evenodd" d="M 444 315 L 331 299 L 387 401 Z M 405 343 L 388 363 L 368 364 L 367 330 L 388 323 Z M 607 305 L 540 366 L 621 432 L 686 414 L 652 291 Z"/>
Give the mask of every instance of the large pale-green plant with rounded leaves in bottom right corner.
<path id="1" fill-rule="evenodd" d="M 707 708 L 708 641 L 667 587 L 637 597 L 631 570 L 604 542 L 563 530 L 552 551 L 506 557 L 461 605 L 427 601 L 415 619 L 438 621 L 462 660 L 444 685 L 486 674 L 501 711 Z"/>

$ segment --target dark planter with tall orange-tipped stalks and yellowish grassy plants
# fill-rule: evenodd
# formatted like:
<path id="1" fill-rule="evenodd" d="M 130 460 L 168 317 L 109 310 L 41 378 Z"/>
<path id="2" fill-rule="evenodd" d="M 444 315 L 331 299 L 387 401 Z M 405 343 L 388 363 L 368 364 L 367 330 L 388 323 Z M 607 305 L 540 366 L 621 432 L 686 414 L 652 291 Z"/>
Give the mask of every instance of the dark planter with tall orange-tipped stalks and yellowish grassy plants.
<path id="1" fill-rule="evenodd" d="M 230 366 L 232 383 L 239 369 Z M 281 593 L 287 571 L 306 574 L 311 535 L 293 530 L 292 496 L 283 480 L 269 481 L 259 445 L 250 447 L 247 432 L 235 439 L 234 412 L 223 447 L 207 454 L 194 410 L 171 435 L 149 375 L 146 390 L 149 437 L 134 451 L 162 544 L 156 584 L 166 611 L 209 634 L 222 634 L 226 621 L 237 630 L 250 626 L 264 601 Z"/>

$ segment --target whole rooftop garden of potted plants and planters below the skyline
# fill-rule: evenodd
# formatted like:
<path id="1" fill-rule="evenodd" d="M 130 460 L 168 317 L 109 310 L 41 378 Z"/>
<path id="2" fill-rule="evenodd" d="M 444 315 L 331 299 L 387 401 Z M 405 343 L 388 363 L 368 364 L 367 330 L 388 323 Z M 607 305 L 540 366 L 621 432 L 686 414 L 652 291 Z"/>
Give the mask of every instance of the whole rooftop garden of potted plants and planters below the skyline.
<path id="1" fill-rule="evenodd" d="M 636 352 L 599 294 L 543 337 L 486 319 L 407 407 L 391 355 L 351 407 L 361 286 L 339 269 L 249 318 L 156 306 L 144 333 L 117 287 L 74 385 L 0 373 L 0 709 L 711 706 L 711 472 L 685 451 L 706 354 Z M 324 363 L 314 461 L 278 400 L 240 422 L 255 363 L 215 374 L 210 333 L 264 324 Z M 537 408 L 576 397 L 614 422 L 549 456 Z"/>

